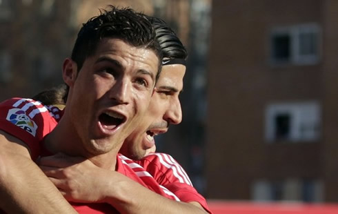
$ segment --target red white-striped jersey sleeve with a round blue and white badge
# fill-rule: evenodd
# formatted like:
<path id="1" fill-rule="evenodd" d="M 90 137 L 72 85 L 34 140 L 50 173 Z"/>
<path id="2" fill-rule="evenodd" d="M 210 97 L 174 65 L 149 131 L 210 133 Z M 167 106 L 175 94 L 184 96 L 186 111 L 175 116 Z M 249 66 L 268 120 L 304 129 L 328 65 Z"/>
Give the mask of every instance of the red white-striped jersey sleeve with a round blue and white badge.
<path id="1" fill-rule="evenodd" d="M 0 129 L 26 143 L 32 159 L 37 158 L 39 142 L 59 117 L 58 112 L 32 99 L 12 98 L 0 103 Z"/>

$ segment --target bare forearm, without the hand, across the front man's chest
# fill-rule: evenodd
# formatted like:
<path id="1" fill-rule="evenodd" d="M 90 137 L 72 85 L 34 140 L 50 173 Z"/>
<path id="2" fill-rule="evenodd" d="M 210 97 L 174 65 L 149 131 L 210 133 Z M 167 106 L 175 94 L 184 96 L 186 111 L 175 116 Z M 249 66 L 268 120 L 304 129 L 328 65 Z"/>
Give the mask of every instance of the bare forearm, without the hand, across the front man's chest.
<path id="1" fill-rule="evenodd" d="M 197 202 L 170 200 L 124 175 L 114 176 L 115 179 L 112 179 L 108 184 L 109 188 L 106 188 L 106 195 L 108 202 L 121 213 L 206 213 Z"/>

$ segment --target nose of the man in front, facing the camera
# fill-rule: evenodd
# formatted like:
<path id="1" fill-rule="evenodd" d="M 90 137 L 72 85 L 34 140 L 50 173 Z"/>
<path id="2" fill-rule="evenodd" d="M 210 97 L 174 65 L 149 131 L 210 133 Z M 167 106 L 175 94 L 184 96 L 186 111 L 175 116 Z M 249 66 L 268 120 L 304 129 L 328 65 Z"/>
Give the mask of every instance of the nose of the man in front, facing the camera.
<path id="1" fill-rule="evenodd" d="M 131 95 L 130 82 L 126 78 L 117 79 L 110 89 L 110 98 L 115 99 L 119 104 L 128 104 Z"/>

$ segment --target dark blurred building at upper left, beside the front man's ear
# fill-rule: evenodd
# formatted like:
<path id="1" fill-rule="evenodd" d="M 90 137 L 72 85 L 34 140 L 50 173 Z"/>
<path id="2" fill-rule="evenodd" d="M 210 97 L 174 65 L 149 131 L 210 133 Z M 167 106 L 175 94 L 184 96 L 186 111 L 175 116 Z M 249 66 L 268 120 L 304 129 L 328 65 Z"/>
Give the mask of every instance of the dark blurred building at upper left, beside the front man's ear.
<path id="1" fill-rule="evenodd" d="M 0 1 L 0 99 L 32 97 L 61 82 L 74 36 L 68 1 Z"/>

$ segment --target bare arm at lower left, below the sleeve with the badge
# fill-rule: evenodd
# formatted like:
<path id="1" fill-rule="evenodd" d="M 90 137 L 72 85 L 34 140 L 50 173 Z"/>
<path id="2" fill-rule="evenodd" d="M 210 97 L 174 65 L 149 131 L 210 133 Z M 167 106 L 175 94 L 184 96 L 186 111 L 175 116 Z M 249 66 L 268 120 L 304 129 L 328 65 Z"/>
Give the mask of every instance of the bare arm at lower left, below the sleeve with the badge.
<path id="1" fill-rule="evenodd" d="M 76 213 L 32 162 L 26 148 L 14 142 L 4 142 L 4 139 L 1 135 L 1 209 L 6 213 Z"/>

